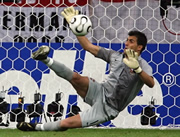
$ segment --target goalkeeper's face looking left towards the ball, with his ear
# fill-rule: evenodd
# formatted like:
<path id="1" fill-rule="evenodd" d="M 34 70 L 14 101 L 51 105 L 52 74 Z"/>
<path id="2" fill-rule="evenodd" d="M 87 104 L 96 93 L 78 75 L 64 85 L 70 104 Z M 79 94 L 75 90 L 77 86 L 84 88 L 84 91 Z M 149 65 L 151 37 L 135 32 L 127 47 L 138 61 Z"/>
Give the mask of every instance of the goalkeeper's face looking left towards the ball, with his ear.
<path id="1" fill-rule="evenodd" d="M 137 44 L 135 36 L 129 36 L 125 42 L 125 49 L 133 49 L 135 52 L 140 53 L 142 46 Z"/>

